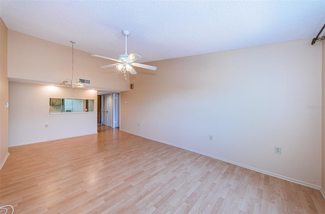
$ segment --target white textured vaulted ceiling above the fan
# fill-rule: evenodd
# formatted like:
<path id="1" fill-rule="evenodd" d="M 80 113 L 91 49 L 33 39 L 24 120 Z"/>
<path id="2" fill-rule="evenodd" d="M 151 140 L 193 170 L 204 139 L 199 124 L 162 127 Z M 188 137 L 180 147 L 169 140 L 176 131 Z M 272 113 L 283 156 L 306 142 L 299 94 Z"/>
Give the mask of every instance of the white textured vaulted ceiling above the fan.
<path id="1" fill-rule="evenodd" d="M 4 1 L 7 27 L 93 54 L 139 62 L 311 39 L 325 1 Z M 322 32 L 323 34 L 324 32 Z"/>

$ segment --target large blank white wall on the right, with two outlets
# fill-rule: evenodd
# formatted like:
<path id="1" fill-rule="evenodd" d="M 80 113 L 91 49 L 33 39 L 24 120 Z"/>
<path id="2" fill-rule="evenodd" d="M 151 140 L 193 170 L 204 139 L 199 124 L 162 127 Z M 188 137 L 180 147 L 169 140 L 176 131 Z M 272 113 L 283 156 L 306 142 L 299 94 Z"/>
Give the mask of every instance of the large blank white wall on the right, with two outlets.
<path id="1" fill-rule="evenodd" d="M 321 44 L 310 41 L 152 62 L 121 93 L 120 129 L 320 188 Z"/>

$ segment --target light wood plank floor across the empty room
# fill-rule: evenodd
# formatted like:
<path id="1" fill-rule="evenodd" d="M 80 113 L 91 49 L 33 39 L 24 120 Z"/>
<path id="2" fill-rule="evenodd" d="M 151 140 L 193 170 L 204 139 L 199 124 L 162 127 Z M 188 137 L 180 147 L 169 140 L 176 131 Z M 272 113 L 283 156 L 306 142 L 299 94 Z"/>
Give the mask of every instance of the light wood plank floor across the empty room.
<path id="1" fill-rule="evenodd" d="M 15 213 L 325 213 L 318 190 L 118 129 L 99 131 L 9 148 L 0 204 Z"/>

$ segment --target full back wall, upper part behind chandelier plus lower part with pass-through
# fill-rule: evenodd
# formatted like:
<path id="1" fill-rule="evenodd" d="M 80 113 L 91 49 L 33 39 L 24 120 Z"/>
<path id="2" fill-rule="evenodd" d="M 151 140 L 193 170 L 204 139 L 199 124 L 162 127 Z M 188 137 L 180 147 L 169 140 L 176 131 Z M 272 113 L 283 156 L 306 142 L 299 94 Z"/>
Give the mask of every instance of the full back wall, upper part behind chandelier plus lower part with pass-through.
<path id="1" fill-rule="evenodd" d="M 88 89 L 129 90 L 129 80 L 125 81 L 116 69 L 99 67 L 114 62 L 79 51 L 78 41 L 74 48 L 74 78 L 89 79 L 91 84 L 84 84 Z M 97 99 L 96 90 L 49 86 L 59 85 L 71 76 L 69 41 L 62 46 L 8 30 L 9 147 L 97 133 L 96 111 L 49 115 L 50 97 Z M 45 124 L 49 128 L 45 129 Z"/>

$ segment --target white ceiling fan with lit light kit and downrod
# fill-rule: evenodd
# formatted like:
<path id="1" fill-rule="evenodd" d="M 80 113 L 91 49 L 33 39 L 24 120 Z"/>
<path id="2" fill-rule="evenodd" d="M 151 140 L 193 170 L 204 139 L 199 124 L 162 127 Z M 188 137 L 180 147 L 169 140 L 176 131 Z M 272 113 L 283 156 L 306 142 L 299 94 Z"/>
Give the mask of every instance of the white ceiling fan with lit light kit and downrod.
<path id="1" fill-rule="evenodd" d="M 122 30 L 122 32 L 123 32 L 123 35 L 125 36 L 125 53 L 119 55 L 118 59 L 113 59 L 113 58 L 109 58 L 109 57 L 106 57 L 106 56 L 91 54 L 91 56 L 100 57 L 100 58 L 103 58 L 103 59 L 109 59 L 109 60 L 113 60 L 113 61 L 118 62 L 118 63 L 115 63 L 115 64 L 108 64 L 108 65 L 101 66 L 101 68 L 109 68 L 109 67 L 115 66 L 116 69 L 119 72 L 124 74 L 125 80 L 126 80 L 126 72 L 129 72 L 132 75 L 137 74 L 137 72 L 136 72 L 136 70 L 134 69 L 133 66 L 142 67 L 142 68 L 149 69 L 149 70 L 156 70 L 157 67 L 155 67 L 155 66 L 136 63 L 135 61 L 142 58 L 138 54 L 134 54 L 134 53 L 127 54 L 127 37 L 130 34 L 130 31 Z"/>

